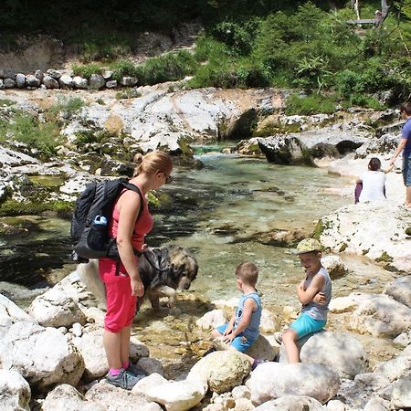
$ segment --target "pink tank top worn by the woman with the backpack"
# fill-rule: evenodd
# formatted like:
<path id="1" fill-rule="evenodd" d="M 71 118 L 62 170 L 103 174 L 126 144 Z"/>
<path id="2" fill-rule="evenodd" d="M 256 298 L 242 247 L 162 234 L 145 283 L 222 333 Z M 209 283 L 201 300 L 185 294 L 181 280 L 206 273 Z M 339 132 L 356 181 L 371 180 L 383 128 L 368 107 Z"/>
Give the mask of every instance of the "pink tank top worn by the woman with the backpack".
<path id="1" fill-rule="evenodd" d="M 124 193 L 124 191 L 126 190 L 123 190 L 121 194 Z M 153 228 L 153 216 L 150 214 L 147 201 L 144 195 L 142 195 L 142 198 L 143 198 L 142 214 L 136 221 L 134 229 L 132 230 L 132 248 L 137 249 L 139 251 L 142 250 L 142 245 L 144 244 L 144 237 L 148 233 L 150 233 L 150 231 Z M 119 199 L 117 199 L 117 201 L 119 201 Z M 111 222 L 109 225 L 109 235 L 113 238 L 117 237 L 117 230 L 119 228 L 119 218 L 120 218 L 120 213 L 119 213 L 119 210 L 117 209 L 117 202 L 116 202 L 112 210 Z"/>

